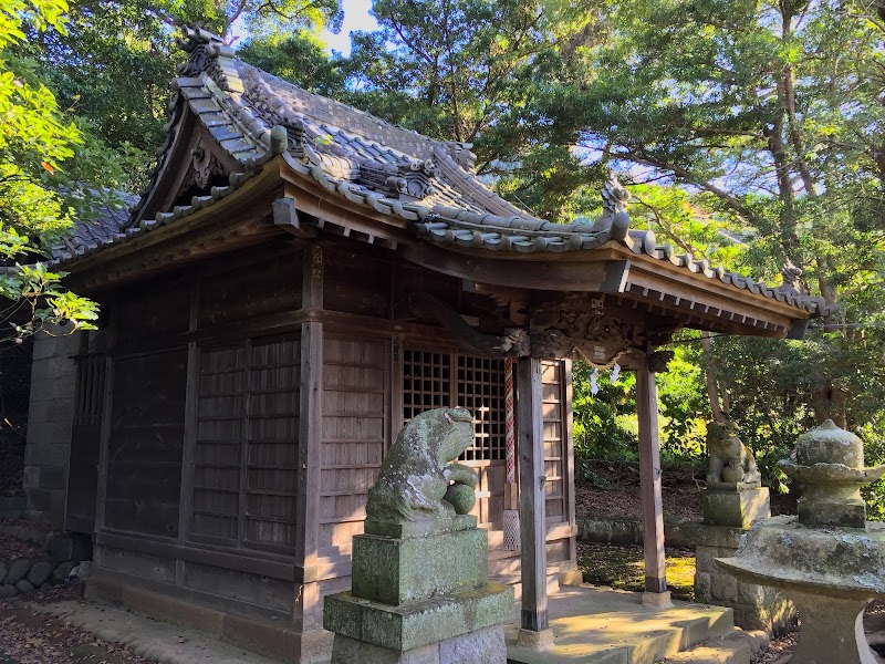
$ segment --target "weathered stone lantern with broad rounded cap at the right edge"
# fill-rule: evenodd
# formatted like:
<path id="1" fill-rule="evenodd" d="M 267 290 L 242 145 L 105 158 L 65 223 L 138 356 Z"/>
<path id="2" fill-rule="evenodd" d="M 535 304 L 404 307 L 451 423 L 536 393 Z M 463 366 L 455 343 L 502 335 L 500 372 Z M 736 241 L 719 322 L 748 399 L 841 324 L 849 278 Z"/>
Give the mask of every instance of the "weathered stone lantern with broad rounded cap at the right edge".
<path id="1" fill-rule="evenodd" d="M 799 517 L 757 523 L 737 554 L 717 563 L 795 603 L 802 631 L 791 664 L 875 664 L 863 611 L 885 596 L 885 525 L 866 522 L 860 488 L 885 466 L 865 468 L 863 442 L 829 419 L 780 465 L 804 486 Z"/>

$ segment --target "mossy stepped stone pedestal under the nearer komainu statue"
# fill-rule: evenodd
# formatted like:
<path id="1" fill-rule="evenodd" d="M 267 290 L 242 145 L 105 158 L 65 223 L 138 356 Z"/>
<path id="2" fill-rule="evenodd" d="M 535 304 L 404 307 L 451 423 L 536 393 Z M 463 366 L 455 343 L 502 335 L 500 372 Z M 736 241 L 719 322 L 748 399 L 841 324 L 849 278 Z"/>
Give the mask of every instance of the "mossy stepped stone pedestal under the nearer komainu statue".
<path id="1" fill-rule="evenodd" d="M 488 581 L 472 517 L 446 532 L 354 537 L 353 591 L 326 598 L 332 664 L 504 664 L 513 589 Z"/>

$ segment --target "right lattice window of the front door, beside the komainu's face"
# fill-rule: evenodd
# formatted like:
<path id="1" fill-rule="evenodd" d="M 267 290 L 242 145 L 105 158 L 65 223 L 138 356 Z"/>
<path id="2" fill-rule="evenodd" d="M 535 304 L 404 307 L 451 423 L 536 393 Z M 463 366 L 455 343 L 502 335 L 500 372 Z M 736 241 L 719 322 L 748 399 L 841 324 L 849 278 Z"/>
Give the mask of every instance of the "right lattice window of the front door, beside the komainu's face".
<path id="1" fill-rule="evenodd" d="M 504 361 L 458 355 L 458 405 L 473 414 L 476 437 L 462 459 L 503 460 Z"/>

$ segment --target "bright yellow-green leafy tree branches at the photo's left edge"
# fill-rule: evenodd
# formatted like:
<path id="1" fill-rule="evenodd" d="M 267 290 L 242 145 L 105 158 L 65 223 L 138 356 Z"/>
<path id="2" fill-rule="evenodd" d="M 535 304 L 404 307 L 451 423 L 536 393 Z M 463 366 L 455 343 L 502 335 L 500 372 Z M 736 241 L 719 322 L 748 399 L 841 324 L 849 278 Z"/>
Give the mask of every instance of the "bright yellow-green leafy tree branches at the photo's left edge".
<path id="1" fill-rule="evenodd" d="M 90 329 L 97 307 L 61 286 L 63 274 L 37 262 L 19 261 L 45 247 L 85 216 L 96 203 L 113 203 L 113 155 L 65 117 L 33 62 L 10 52 L 24 39 L 24 24 L 35 30 L 63 29 L 64 0 L 0 0 L 0 343 L 42 330 L 46 323 Z M 98 174 L 103 175 L 100 180 Z M 108 179 L 107 176 L 111 176 Z"/>

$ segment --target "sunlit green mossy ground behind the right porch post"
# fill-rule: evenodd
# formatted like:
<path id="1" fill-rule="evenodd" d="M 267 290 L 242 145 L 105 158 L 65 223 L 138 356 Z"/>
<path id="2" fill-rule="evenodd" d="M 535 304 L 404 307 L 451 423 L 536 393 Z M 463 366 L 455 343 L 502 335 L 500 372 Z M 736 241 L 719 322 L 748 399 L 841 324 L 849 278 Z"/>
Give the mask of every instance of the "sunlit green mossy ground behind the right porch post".
<path id="1" fill-rule="evenodd" d="M 584 582 L 642 592 L 645 584 L 643 548 L 628 544 L 579 544 L 577 564 Z M 667 588 L 674 599 L 695 599 L 695 553 L 667 549 Z"/>

